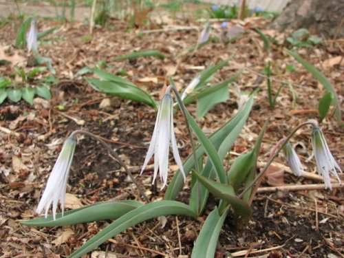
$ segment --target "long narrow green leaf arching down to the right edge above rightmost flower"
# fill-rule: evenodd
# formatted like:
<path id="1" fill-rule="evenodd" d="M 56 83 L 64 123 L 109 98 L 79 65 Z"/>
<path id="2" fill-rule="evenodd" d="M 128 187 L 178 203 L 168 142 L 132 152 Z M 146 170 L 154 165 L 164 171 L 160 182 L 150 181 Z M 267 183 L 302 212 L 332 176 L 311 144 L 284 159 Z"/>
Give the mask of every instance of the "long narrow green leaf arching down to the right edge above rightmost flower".
<path id="1" fill-rule="evenodd" d="M 310 72 L 314 76 L 314 78 L 316 78 L 316 80 L 318 80 L 319 83 L 321 83 L 327 89 L 327 92 L 332 92 L 333 99 L 331 105 L 334 105 L 336 107 L 337 122 L 339 125 L 342 125 L 341 108 L 339 106 L 338 96 L 336 94 L 336 90 L 331 85 L 330 81 L 327 80 L 327 78 L 323 74 L 321 74 L 321 72 L 319 72 L 313 65 L 303 60 L 303 58 L 301 58 L 299 54 L 287 49 L 284 49 L 284 51 L 286 51 L 288 54 L 290 54 L 290 56 L 294 57 L 299 63 L 301 63 L 301 65 L 303 65 L 303 67 L 305 67 L 305 69 L 307 69 L 308 72 Z"/>

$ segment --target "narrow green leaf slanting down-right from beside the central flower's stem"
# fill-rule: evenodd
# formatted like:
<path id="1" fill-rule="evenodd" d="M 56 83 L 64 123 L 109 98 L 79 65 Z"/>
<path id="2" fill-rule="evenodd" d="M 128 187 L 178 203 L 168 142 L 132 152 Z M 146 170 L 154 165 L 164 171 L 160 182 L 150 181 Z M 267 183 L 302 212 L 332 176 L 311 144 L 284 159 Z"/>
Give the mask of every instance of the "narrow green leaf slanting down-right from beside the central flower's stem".
<path id="1" fill-rule="evenodd" d="M 222 164 L 222 160 L 219 158 L 219 155 L 217 154 L 217 151 L 211 141 L 204 135 L 202 129 L 197 125 L 197 122 L 193 120 L 193 117 L 189 113 L 189 111 L 186 111 L 187 120 L 195 132 L 195 135 L 197 139 L 200 141 L 200 144 L 202 144 L 204 150 L 206 151 L 206 154 L 208 155 L 209 160 L 211 160 L 211 163 L 214 166 L 215 173 L 217 175 L 217 178 L 219 179 L 219 182 L 222 182 L 225 184 L 227 182 L 226 180 L 226 173 L 224 172 L 224 166 Z"/>

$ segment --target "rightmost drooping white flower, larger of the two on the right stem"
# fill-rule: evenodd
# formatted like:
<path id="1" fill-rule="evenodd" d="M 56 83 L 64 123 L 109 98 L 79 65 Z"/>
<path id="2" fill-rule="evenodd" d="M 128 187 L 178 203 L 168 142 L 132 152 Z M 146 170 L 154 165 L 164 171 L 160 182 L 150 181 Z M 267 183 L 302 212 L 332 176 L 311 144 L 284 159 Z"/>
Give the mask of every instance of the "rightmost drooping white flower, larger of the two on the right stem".
<path id="1" fill-rule="evenodd" d="M 323 176 L 326 189 L 328 187 L 330 190 L 332 190 L 330 173 L 336 177 L 339 183 L 341 183 L 341 179 L 338 177 L 336 172 L 336 170 L 341 171 L 341 168 L 337 164 L 336 160 L 334 160 L 330 149 L 328 149 L 323 132 L 319 127 L 313 127 L 312 146 L 317 171 Z"/>

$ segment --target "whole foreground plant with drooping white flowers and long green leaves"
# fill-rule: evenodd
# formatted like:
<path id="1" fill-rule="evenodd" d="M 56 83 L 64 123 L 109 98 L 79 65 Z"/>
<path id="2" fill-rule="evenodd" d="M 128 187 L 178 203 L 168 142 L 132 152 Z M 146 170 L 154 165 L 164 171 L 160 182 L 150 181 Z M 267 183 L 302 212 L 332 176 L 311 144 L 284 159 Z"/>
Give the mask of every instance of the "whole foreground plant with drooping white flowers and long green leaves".
<path id="1" fill-rule="evenodd" d="M 189 131 L 191 147 L 193 149 L 191 155 L 189 155 L 184 162 L 182 162 L 178 153 L 174 134 L 173 98 L 171 93 L 174 94 L 177 105 L 184 116 L 186 128 Z M 279 155 L 280 151 L 284 149 L 286 160 L 295 175 L 302 175 L 303 168 L 301 162 L 299 158 L 297 158 L 297 154 L 294 152 L 289 142 L 290 138 L 292 138 L 294 133 L 301 127 L 312 127 L 312 142 L 316 164 L 319 173 L 324 177 L 327 188 L 331 189 L 332 187 L 329 179 L 330 174 L 336 176 L 337 180 L 340 182 L 336 170 L 341 171 L 341 169 L 334 161 L 323 133 L 315 122 L 304 122 L 296 127 L 286 136 L 281 144 L 278 145 L 279 147 L 277 147 L 268 162 L 266 162 L 266 166 L 257 174 L 257 159 L 264 131 L 268 125 L 268 122 L 266 122 L 259 133 L 255 147 L 251 151 L 239 155 L 230 166 L 229 171 L 226 171 L 223 160 L 226 158 L 228 151 L 230 151 L 235 139 L 237 139 L 241 129 L 244 127 L 252 105 L 253 97 L 251 96 L 233 118 L 228 120 L 208 138 L 197 125 L 193 116 L 189 114 L 189 111 L 184 106 L 182 97 L 174 86 L 173 80 L 171 80 L 171 86 L 167 87 L 160 101 L 151 144 L 141 171 L 141 173 L 144 171 L 149 160 L 154 155 L 154 173 L 152 181 L 155 182 L 155 178 L 159 171 L 160 179 L 163 183 L 162 188 L 164 188 L 169 181 L 168 164 L 171 145 L 173 156 L 179 169 L 175 171 L 172 180 L 166 187 L 164 200 L 150 202 L 149 198 L 144 193 L 144 189 L 142 189 L 142 186 L 133 178 L 124 162 L 118 158 L 116 151 L 111 149 L 106 142 L 94 136 L 92 133 L 78 130 L 74 131 L 63 145 L 61 154 L 56 161 L 54 169 L 52 169 L 46 189 L 39 202 L 39 207 L 37 208 L 39 213 L 45 208 L 45 215 L 47 215 L 50 204 L 53 204 L 53 215 L 39 217 L 21 223 L 29 226 L 63 226 L 102 219 L 115 219 L 114 222 L 106 226 L 97 235 L 89 239 L 83 246 L 74 250 L 74 252 L 69 255 L 69 257 L 81 257 L 87 254 L 87 252 L 94 250 L 94 248 L 97 248 L 100 244 L 103 244 L 107 239 L 147 219 L 153 219 L 162 215 L 184 215 L 196 218 L 203 214 L 208 202 L 208 196 L 212 193 L 218 198 L 219 202 L 213 211 L 209 213 L 204 222 L 202 230 L 195 241 L 191 257 L 214 257 L 220 230 L 229 213 L 233 213 L 231 217 L 234 217 L 237 228 L 242 228 L 248 224 L 252 215 L 250 200 L 252 200 L 252 197 L 255 195 L 255 186 L 261 179 L 261 176 L 267 171 L 271 162 Z M 111 153 L 111 155 L 113 155 L 125 168 L 125 171 L 127 171 L 133 183 L 136 184 L 138 191 L 140 191 L 140 195 L 144 198 L 145 204 L 133 200 L 98 202 L 90 206 L 64 212 L 63 214 L 65 186 L 67 184 L 67 177 L 69 175 L 72 156 L 76 145 L 75 136 L 79 133 L 83 133 L 102 142 L 107 151 L 109 151 L 109 153 Z M 193 141 L 193 136 L 197 138 L 197 144 Z M 178 197 L 189 174 L 193 176 L 189 204 L 177 202 L 175 199 Z M 56 214 L 58 200 L 61 200 L 62 213 Z"/>

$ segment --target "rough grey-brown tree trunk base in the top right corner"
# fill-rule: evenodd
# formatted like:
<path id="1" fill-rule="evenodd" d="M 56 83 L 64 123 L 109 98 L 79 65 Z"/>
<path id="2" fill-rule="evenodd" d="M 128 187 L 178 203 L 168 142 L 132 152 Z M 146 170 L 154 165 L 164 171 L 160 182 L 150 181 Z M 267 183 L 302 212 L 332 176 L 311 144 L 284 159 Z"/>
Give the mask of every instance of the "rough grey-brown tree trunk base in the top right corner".
<path id="1" fill-rule="evenodd" d="M 344 37 L 344 0 L 292 0 L 271 27 L 283 31 L 306 28 L 338 39 Z"/>

